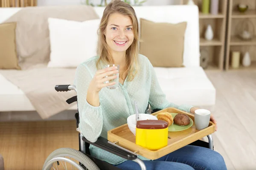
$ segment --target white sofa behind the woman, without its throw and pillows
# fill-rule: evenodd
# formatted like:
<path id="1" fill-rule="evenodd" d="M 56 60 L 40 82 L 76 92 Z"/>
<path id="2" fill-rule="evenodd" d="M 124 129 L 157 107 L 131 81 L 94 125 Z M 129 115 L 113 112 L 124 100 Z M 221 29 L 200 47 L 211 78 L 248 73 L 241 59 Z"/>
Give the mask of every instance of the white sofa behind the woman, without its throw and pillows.
<path id="1" fill-rule="evenodd" d="M 99 17 L 104 8 L 94 7 Z M 183 68 L 156 68 L 162 90 L 170 102 L 178 105 L 210 106 L 215 104 L 215 88 L 200 67 L 199 17 L 197 6 L 136 6 L 138 19 L 154 22 L 187 22 Z M 0 23 L 20 8 L 0 8 Z M 29 99 L 0 74 L 0 111 L 35 111 Z M 76 105 L 69 110 L 76 110 Z"/>

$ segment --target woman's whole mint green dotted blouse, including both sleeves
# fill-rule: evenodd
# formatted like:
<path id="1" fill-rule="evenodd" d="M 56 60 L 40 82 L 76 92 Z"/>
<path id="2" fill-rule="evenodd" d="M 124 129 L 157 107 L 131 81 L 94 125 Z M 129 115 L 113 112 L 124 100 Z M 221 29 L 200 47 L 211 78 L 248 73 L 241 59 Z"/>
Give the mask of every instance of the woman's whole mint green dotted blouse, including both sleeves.
<path id="1" fill-rule="evenodd" d="M 108 138 L 107 132 L 127 123 L 128 116 L 134 113 L 134 101 L 138 104 L 139 113 L 145 113 L 148 103 L 152 109 L 175 107 L 190 111 L 192 106 L 175 105 L 166 100 L 166 95 L 160 88 L 154 68 L 147 57 L 139 55 L 139 71 L 133 81 L 119 83 L 118 89 L 102 88 L 99 92 L 98 107 L 90 105 L 87 100 L 87 89 L 97 71 L 96 61 L 99 56 L 91 57 L 81 63 L 76 69 L 74 85 L 77 89 L 77 101 L 80 116 L 79 129 L 90 142 L 96 142 L 99 136 Z M 119 164 L 125 159 L 90 145 L 90 154 L 110 164 Z M 142 160 L 148 160 L 139 156 Z"/>

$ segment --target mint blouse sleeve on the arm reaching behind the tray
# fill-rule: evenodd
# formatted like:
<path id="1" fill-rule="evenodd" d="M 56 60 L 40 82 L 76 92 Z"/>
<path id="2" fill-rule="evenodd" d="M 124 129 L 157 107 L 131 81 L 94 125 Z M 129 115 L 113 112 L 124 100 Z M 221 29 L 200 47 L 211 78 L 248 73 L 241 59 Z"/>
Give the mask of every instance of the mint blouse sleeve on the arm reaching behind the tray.
<path id="1" fill-rule="evenodd" d="M 149 60 L 148 60 L 148 64 L 149 64 L 149 70 L 151 74 L 151 77 L 150 77 L 151 87 L 150 87 L 150 95 L 149 95 L 149 104 L 151 108 L 154 110 L 154 109 L 164 109 L 164 108 L 172 107 L 172 108 L 180 109 L 182 111 L 189 112 L 193 106 L 175 105 L 174 103 L 167 101 L 166 95 L 163 93 L 159 85 L 159 82 L 157 80 L 154 67 Z"/>

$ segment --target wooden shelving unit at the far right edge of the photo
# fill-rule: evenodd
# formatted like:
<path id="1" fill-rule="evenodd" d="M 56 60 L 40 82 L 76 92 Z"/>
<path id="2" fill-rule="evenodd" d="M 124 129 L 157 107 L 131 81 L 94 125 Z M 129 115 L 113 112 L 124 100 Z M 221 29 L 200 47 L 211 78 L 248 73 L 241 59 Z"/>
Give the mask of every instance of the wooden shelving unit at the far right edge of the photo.
<path id="1" fill-rule="evenodd" d="M 237 5 L 243 3 L 248 5 L 248 10 L 241 13 Z M 228 26 L 227 26 L 227 44 L 226 44 L 226 70 L 255 70 L 256 69 L 256 37 L 251 40 L 241 40 L 238 35 L 239 23 L 243 20 L 249 20 L 253 23 L 256 29 L 256 1 L 255 0 L 230 0 L 228 9 Z M 253 32 L 255 35 L 255 31 Z M 240 62 L 239 68 L 231 68 L 230 61 L 232 57 L 232 51 L 240 51 L 240 60 L 246 51 L 250 54 L 251 65 L 249 67 L 243 67 Z"/>

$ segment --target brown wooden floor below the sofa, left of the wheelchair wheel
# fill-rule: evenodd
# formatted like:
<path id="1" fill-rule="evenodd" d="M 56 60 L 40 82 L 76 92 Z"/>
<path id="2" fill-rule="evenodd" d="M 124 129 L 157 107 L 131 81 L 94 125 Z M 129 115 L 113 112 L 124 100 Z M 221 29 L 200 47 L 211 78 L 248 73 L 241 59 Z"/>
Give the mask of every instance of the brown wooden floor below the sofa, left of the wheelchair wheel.
<path id="1" fill-rule="evenodd" d="M 52 151 L 79 149 L 76 121 L 1 122 L 0 153 L 6 170 L 42 170 Z"/>

